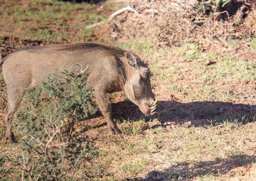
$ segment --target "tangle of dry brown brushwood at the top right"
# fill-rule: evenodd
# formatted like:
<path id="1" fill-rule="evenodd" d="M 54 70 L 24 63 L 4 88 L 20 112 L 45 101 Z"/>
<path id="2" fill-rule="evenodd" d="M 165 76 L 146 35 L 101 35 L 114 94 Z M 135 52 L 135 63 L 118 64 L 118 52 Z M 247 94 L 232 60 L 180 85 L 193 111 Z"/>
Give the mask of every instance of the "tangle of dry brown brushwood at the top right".
<path id="1" fill-rule="evenodd" d="M 207 1 L 215 2 L 215 1 Z M 197 0 L 134 0 L 131 4 L 137 13 L 125 11 L 115 24 L 112 36 L 141 38 L 148 36 L 158 47 L 196 42 L 204 49 L 221 43 L 221 39 L 254 36 L 255 29 L 245 23 L 251 8 L 246 1 L 228 1 L 205 9 L 207 2 Z M 206 6 L 208 7 L 208 6 Z M 215 8 L 214 8 L 215 7 Z M 218 8 L 217 8 L 218 7 Z M 243 29 L 243 31 L 240 31 Z M 119 31 L 119 32 L 118 32 Z"/>

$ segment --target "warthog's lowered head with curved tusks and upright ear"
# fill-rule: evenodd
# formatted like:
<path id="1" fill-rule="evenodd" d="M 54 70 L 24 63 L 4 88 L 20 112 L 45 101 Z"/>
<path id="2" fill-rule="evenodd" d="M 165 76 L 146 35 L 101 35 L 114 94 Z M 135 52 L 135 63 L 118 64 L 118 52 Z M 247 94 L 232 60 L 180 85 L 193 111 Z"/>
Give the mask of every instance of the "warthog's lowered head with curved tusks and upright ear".
<path id="1" fill-rule="evenodd" d="M 139 106 L 141 112 L 146 115 L 158 114 L 157 99 L 155 99 L 150 85 L 150 70 L 135 54 L 131 52 L 124 54 L 130 65 L 124 91 L 128 98 Z"/>

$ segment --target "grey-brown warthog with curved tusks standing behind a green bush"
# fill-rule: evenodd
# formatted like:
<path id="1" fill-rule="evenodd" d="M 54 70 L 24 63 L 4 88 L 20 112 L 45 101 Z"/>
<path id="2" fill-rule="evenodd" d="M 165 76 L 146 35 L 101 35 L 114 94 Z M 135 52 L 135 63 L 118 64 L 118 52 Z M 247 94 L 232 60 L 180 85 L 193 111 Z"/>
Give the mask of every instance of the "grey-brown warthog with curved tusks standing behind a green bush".
<path id="1" fill-rule="evenodd" d="M 26 90 L 38 85 L 49 74 L 59 74 L 65 67 L 76 71 L 87 67 L 88 85 L 94 88 L 96 103 L 108 123 L 110 133 L 120 133 L 113 121 L 107 93 L 124 90 L 144 114 L 155 115 L 157 99 L 150 87 L 150 70 L 131 51 L 93 43 L 28 47 L 16 51 L 0 62 L 7 84 L 8 105 L 4 109 L 6 141 L 16 143 L 11 118 Z"/>

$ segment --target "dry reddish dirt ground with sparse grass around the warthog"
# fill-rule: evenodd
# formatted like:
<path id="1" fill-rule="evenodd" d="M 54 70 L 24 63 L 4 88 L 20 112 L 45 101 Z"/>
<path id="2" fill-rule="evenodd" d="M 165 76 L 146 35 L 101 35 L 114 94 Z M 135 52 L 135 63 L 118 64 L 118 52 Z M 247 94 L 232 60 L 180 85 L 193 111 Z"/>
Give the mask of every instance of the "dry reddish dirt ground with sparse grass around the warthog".
<path id="1" fill-rule="evenodd" d="M 123 134 L 110 135 L 100 113 L 76 125 L 99 148 L 94 180 L 256 180 L 255 38 L 228 38 L 208 50 L 196 43 L 158 49 L 146 37 L 111 38 L 107 25 L 85 29 L 124 4 L 10 0 L 0 6 L 2 57 L 28 45 L 93 41 L 132 49 L 148 63 L 160 115 L 145 117 L 120 92 L 109 97 Z M 2 74 L 0 83 L 0 151 L 10 153 Z"/>

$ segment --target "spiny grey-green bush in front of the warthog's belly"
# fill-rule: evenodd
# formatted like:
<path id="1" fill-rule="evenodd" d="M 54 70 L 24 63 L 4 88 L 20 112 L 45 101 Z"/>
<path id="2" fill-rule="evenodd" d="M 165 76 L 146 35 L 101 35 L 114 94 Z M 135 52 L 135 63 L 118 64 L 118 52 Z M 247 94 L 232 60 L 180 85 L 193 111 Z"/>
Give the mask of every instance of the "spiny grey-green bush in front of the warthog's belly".
<path id="1" fill-rule="evenodd" d="M 82 71 L 80 71 L 82 72 Z M 0 157 L 0 180 L 75 180 L 97 156 L 74 123 L 95 113 L 83 74 L 63 71 L 30 89 L 13 120 L 18 155 Z"/>

